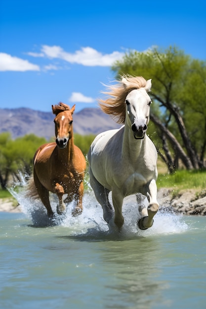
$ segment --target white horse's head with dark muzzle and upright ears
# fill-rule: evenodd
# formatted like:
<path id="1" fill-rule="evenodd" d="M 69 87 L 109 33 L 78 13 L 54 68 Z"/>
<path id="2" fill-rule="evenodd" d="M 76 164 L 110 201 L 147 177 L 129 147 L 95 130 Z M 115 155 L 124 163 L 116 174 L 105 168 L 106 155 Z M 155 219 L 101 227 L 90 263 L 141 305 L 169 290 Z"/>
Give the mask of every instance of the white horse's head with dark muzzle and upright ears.
<path id="1" fill-rule="evenodd" d="M 127 80 L 123 77 L 124 87 Z M 151 79 L 147 80 L 146 87 L 131 89 L 126 96 L 126 119 L 125 124 L 131 127 L 135 139 L 143 139 L 150 120 L 150 104 L 152 103 L 148 91 L 152 87 Z"/>

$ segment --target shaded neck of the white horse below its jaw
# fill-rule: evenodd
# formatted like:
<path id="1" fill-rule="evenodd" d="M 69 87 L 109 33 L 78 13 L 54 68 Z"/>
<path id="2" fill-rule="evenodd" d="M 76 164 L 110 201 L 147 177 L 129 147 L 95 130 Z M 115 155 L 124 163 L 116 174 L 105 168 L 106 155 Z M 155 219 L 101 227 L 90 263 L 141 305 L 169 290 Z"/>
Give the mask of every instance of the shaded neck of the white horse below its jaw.
<path id="1" fill-rule="evenodd" d="M 136 140 L 133 132 L 125 123 L 122 150 L 123 155 L 129 157 L 130 162 L 135 162 L 144 148 L 145 140 L 146 134 L 143 139 Z"/>

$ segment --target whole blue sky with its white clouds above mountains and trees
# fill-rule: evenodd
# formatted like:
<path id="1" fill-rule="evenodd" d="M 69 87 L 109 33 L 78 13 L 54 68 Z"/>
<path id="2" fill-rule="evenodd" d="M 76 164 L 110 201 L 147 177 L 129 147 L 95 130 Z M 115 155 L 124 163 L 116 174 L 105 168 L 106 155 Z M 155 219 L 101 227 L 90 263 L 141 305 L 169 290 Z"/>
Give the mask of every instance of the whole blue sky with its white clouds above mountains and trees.
<path id="1" fill-rule="evenodd" d="M 206 60 L 206 1 L 0 0 L 0 108 L 97 107 L 128 50 Z"/>

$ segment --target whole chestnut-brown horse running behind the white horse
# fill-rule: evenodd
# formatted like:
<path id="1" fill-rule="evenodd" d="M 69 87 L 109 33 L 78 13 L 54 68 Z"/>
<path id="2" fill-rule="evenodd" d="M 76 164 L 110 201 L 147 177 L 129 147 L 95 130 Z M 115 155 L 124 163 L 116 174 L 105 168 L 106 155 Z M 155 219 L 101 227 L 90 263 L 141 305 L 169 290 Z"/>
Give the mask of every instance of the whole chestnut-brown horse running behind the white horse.
<path id="1" fill-rule="evenodd" d="M 82 151 L 74 145 L 73 113 L 75 105 L 52 105 L 56 143 L 42 145 L 34 155 L 34 183 L 48 217 L 54 215 L 49 202 L 49 191 L 59 198 L 57 213 L 66 210 L 64 202 L 76 201 L 73 216 L 82 213 L 83 178 L 86 161 Z M 63 201 L 63 194 L 68 194 Z"/>

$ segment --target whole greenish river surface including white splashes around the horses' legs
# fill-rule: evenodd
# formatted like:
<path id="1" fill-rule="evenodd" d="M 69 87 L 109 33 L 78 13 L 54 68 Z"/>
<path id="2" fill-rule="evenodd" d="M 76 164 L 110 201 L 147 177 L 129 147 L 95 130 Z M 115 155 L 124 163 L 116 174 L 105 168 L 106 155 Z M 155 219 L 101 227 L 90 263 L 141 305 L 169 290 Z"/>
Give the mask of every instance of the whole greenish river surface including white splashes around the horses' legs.
<path id="1" fill-rule="evenodd" d="M 206 217 L 163 207 L 140 231 L 131 196 L 116 232 L 88 192 L 82 215 L 71 217 L 68 205 L 48 226 L 37 201 L 14 195 L 23 212 L 0 213 L 1 309 L 206 308 Z"/>

